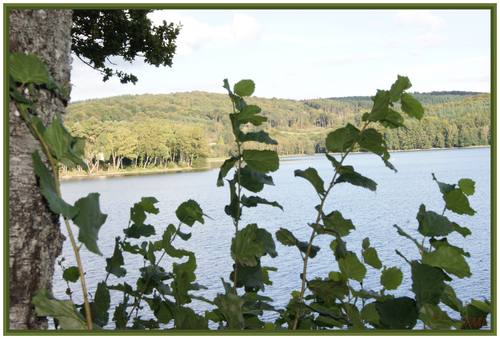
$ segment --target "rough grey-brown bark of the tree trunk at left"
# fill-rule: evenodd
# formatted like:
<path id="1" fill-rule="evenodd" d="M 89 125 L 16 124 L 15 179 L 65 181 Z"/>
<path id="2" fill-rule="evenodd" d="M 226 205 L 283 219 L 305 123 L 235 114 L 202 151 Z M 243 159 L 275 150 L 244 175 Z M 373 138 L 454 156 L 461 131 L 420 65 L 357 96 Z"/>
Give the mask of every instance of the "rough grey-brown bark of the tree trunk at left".
<path id="1" fill-rule="evenodd" d="M 9 52 L 35 54 L 55 83 L 66 90 L 69 82 L 72 10 L 22 10 L 9 12 Z M 36 86 L 35 86 L 36 87 Z M 48 127 L 66 103 L 45 87 L 36 87 L 37 115 Z M 37 317 L 30 303 L 39 288 L 52 290 L 55 258 L 64 236 L 59 215 L 50 211 L 33 173 L 30 152 L 38 150 L 15 104 L 9 102 L 9 328 L 45 329 L 45 317 Z"/>

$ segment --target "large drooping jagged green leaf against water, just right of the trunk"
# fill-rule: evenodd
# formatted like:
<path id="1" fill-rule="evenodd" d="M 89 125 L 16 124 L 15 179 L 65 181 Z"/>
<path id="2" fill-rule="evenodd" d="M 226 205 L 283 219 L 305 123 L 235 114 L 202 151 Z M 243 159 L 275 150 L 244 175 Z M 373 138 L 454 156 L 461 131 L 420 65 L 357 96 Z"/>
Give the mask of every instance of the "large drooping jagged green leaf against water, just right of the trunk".
<path id="1" fill-rule="evenodd" d="M 74 206 L 78 208 L 78 214 L 72 218 L 80 229 L 78 241 L 83 242 L 89 251 L 102 255 L 97 248 L 97 233 L 107 214 L 100 212 L 99 193 L 89 193 L 86 197 L 78 199 Z"/>

